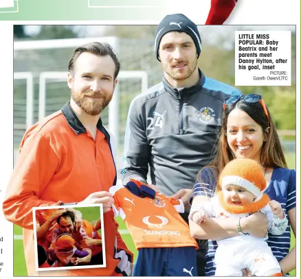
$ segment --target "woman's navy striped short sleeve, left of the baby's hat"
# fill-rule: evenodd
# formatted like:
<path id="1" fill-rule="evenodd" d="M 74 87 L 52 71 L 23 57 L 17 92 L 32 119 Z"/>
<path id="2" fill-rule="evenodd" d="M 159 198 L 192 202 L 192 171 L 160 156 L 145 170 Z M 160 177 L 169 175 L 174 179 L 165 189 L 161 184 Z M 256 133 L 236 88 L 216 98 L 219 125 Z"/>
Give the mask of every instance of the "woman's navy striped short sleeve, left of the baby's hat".
<path id="1" fill-rule="evenodd" d="M 194 188 L 192 195 L 190 197 L 190 205 L 192 204 L 192 199 L 197 195 L 205 195 L 206 197 L 213 197 L 216 189 L 216 174 L 210 168 L 204 168 L 199 173 L 196 182 L 194 183 Z"/>

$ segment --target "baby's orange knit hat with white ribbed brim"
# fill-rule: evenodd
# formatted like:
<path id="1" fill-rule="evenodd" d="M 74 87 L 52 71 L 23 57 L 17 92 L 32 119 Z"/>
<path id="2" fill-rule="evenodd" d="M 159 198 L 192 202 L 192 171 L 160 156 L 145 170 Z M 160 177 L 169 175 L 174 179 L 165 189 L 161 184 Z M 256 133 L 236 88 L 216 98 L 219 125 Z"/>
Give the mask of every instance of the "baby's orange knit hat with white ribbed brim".
<path id="1" fill-rule="evenodd" d="M 252 159 L 237 158 L 225 165 L 219 178 L 221 189 L 234 184 L 241 186 L 258 197 L 267 182 L 262 167 Z"/>

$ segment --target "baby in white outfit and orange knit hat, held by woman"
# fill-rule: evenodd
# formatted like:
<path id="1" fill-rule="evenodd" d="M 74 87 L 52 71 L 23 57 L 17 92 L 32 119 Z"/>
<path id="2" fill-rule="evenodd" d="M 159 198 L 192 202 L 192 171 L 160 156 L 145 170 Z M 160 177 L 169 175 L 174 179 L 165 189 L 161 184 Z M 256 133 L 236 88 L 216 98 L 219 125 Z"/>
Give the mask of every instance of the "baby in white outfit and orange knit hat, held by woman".
<path id="1" fill-rule="evenodd" d="M 265 240 L 243 233 L 240 220 L 256 211 L 269 220 L 269 232 L 280 235 L 285 232 L 288 220 L 280 204 L 270 201 L 262 193 L 267 186 L 262 167 L 254 160 L 235 159 L 229 162 L 219 178 L 221 189 L 210 199 L 192 206 L 189 218 L 195 223 L 208 217 L 238 217 L 238 236 L 217 241 L 214 262 L 215 276 L 243 276 L 242 269 L 249 269 L 255 276 L 283 276 L 280 265 Z"/>

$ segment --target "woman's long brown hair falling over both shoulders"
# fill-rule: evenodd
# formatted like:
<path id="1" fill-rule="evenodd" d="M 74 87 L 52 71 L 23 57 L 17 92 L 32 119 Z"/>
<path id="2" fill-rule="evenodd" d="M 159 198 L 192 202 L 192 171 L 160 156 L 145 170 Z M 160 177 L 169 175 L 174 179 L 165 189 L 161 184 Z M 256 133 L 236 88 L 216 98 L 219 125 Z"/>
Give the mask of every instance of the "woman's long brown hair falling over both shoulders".
<path id="1" fill-rule="evenodd" d="M 268 108 L 267 113 L 269 114 L 269 119 L 267 118 L 267 115 L 260 103 L 248 104 L 241 99 L 236 104 L 231 104 L 225 107 L 222 115 L 221 130 L 218 134 L 217 144 L 212 155 L 213 160 L 203 169 L 210 168 L 217 181 L 217 178 L 225 165 L 235 158 L 227 143 L 227 119 L 230 112 L 232 112 L 235 108 L 247 113 L 249 117 L 258 123 L 258 125 L 260 125 L 263 129 L 265 141 L 263 142 L 260 154 L 261 165 L 263 165 L 263 167 L 287 168 L 285 154 L 276 131 L 276 126 L 271 118 Z M 203 169 L 199 171 L 197 176 L 198 180 L 202 180 L 200 178 L 203 176 L 201 175 Z"/>

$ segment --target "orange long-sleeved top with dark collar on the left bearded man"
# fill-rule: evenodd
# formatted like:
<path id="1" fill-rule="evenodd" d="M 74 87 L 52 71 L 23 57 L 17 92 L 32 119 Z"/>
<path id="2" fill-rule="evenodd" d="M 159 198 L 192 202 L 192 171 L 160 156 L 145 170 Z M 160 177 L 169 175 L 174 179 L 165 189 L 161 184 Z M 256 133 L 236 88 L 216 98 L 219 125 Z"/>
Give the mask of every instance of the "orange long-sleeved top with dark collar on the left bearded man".
<path id="1" fill-rule="evenodd" d="M 5 218 L 23 228 L 29 276 L 126 276 L 133 254 L 118 233 L 113 212 L 104 213 L 107 267 L 37 272 L 32 208 L 81 202 L 116 183 L 110 135 L 102 121 L 96 141 L 66 104 L 27 130 L 3 201 Z"/>

